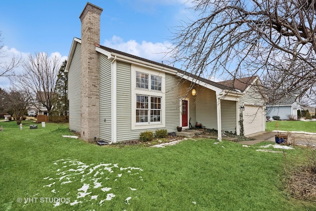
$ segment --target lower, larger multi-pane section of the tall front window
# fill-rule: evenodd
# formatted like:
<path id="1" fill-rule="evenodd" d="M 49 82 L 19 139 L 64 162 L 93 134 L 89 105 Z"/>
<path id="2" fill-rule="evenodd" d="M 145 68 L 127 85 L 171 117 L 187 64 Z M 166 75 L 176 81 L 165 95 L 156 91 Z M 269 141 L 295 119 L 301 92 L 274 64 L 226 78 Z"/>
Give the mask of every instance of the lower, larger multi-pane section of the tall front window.
<path id="1" fill-rule="evenodd" d="M 150 124 L 160 122 L 161 97 L 136 95 L 136 123 Z"/>

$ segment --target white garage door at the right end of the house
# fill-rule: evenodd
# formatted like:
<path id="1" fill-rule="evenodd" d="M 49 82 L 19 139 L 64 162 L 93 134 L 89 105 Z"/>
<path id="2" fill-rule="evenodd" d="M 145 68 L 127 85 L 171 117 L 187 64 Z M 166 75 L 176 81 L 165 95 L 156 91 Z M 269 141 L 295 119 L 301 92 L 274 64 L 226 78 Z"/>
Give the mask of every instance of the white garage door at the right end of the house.
<path id="1" fill-rule="evenodd" d="M 265 117 L 262 107 L 245 105 L 245 110 L 242 114 L 244 135 L 265 130 Z"/>

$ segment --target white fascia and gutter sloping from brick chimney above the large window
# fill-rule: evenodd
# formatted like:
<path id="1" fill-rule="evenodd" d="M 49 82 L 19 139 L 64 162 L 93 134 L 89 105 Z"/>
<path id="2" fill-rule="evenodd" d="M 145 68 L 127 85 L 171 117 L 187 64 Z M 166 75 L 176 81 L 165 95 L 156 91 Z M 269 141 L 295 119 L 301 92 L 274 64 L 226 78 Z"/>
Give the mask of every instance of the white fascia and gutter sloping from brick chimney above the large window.
<path id="1" fill-rule="evenodd" d="M 172 74 L 172 75 L 175 75 L 177 73 L 176 70 L 172 70 L 172 69 L 167 68 L 167 67 L 161 67 L 159 65 L 155 65 L 155 64 L 152 64 L 152 63 L 149 63 L 149 62 L 146 62 L 146 61 L 134 59 L 134 58 L 131 58 L 131 57 L 128 57 L 128 56 L 124 56 L 124 55 L 118 54 L 118 53 L 111 53 L 111 52 L 106 51 L 106 50 L 104 50 L 104 49 L 102 49 L 100 47 L 97 47 L 97 46 L 95 47 L 95 49 L 99 53 L 102 53 L 102 54 L 108 56 L 108 59 L 114 59 L 116 57 L 117 61 L 122 61 L 122 62 L 131 63 L 131 64 L 136 64 L 136 65 L 139 65 L 139 66 L 143 66 L 143 67 L 150 68 L 150 69 L 153 69 L 153 70 L 161 71 L 161 72 L 164 72 L 164 73 L 169 73 L 169 74 Z"/>

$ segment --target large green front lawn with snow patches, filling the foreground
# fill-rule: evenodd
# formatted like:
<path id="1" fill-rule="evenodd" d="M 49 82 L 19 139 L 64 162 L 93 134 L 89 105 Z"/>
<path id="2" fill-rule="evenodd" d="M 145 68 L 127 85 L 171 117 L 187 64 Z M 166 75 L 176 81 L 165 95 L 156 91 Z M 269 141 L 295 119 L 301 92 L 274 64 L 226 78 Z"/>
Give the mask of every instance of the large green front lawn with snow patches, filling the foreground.
<path id="1" fill-rule="evenodd" d="M 267 142 L 100 147 L 62 137 L 66 124 L 23 124 L 0 123 L 1 211 L 316 210 L 284 191 L 283 154 L 256 151 Z"/>

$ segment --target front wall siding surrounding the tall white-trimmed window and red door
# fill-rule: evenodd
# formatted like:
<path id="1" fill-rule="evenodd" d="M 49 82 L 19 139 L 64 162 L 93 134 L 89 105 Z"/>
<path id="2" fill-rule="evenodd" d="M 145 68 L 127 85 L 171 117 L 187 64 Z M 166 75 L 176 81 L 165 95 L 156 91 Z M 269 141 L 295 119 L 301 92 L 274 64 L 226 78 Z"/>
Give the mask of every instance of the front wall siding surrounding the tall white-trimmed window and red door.
<path id="1" fill-rule="evenodd" d="M 131 129 L 131 112 L 135 112 L 131 111 L 131 104 L 133 103 L 131 102 L 131 67 L 129 64 L 118 62 L 117 70 L 117 141 L 139 139 L 139 134 L 147 129 Z M 165 128 L 148 130 L 155 132 L 156 129 L 167 129 L 168 132 L 175 132 L 176 127 L 180 124 L 180 99 L 186 95 L 190 102 L 190 117 L 194 119 L 191 123 L 194 123 L 196 118 L 195 97 L 192 96 L 191 92 L 187 93 L 190 83 L 178 83 L 178 80 L 179 78 L 166 74 L 166 109 L 165 114 L 161 116 L 166 118 Z"/>

